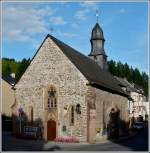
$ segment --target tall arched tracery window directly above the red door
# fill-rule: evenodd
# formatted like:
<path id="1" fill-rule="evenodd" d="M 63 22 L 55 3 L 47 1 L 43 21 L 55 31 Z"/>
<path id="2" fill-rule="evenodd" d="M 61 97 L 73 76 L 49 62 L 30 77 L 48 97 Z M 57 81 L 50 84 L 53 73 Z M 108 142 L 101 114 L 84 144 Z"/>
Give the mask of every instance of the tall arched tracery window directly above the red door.
<path id="1" fill-rule="evenodd" d="M 57 99 L 56 99 L 56 90 L 54 87 L 50 87 L 48 91 L 48 108 L 56 108 L 57 107 Z"/>

